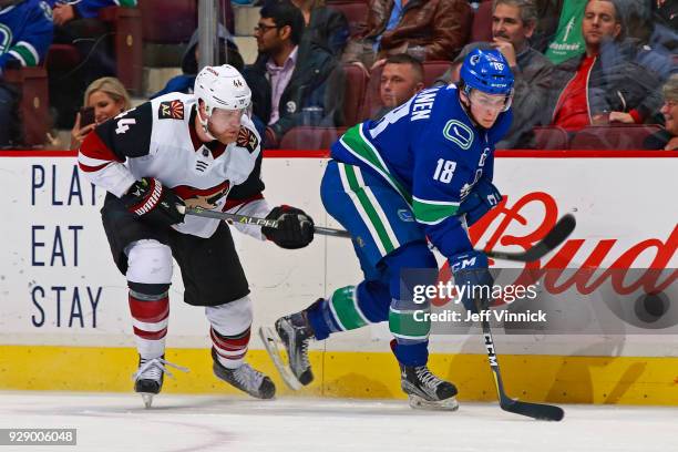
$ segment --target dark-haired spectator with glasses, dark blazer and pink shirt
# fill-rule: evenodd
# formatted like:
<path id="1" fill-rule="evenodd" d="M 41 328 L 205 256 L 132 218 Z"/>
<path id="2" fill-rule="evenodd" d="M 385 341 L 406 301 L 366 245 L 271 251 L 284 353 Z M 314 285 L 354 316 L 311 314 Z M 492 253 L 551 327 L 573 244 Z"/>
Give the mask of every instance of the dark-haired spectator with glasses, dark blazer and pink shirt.
<path id="1" fill-rule="evenodd" d="M 296 125 L 337 125 L 339 84 L 329 88 L 339 73 L 336 59 L 312 42 L 301 42 L 304 16 L 292 3 L 266 4 L 259 16 L 255 27 L 259 53 L 244 76 L 251 89 L 254 114 L 267 124 L 266 145 L 277 147 Z"/>

